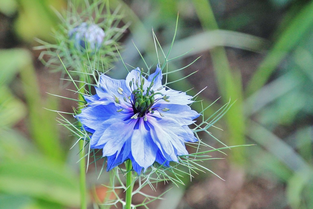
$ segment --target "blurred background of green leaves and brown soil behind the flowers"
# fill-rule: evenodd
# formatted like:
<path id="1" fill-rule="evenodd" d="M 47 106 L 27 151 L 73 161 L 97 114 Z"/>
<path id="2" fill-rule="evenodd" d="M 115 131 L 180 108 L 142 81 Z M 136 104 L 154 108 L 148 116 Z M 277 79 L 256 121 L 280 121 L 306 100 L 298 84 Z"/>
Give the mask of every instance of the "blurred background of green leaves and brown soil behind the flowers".
<path id="1" fill-rule="evenodd" d="M 51 8 L 66 5 L 65 0 L 0 2 L 0 208 L 79 206 L 79 150 L 69 151 L 73 139 L 57 127 L 57 115 L 43 108 L 70 112 L 76 104 L 45 93 L 69 94 L 55 85 L 60 75 L 44 68 L 40 52 L 32 50 L 34 37 L 54 41 L 51 29 L 59 19 Z M 236 100 L 218 122 L 224 131 L 211 131 L 227 145 L 256 144 L 203 163 L 225 182 L 196 175 L 151 208 L 313 208 L 313 1 L 110 1 L 112 10 L 118 6 L 124 23 L 131 22 L 121 41 L 122 57 L 132 66 L 144 66 L 133 42 L 148 64 L 155 62 L 152 27 L 168 49 L 179 12 L 171 57 L 193 50 L 169 69 L 201 58 L 170 77 L 199 70 L 173 88 L 194 87 L 192 94 L 208 86 L 200 95 L 204 104 L 221 96 L 206 115 L 229 98 Z M 125 77 L 120 68 L 116 63 L 113 77 Z M 87 177 L 91 193 L 99 196 L 101 187 L 93 187 L 105 183 L 106 175 L 96 182 L 91 168 Z"/>

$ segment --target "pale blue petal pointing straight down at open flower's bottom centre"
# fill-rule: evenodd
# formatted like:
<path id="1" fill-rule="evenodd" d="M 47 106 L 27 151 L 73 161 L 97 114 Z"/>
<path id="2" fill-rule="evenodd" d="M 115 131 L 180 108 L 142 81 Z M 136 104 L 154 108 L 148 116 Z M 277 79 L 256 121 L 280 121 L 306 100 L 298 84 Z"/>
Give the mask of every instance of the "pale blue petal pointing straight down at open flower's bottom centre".
<path id="1" fill-rule="evenodd" d="M 154 163 L 158 147 L 153 142 L 150 131 L 147 130 L 149 127 L 145 127 L 144 123 L 143 118 L 140 118 L 139 127 L 134 130 L 131 138 L 131 153 L 134 160 L 144 168 L 145 172 Z"/>

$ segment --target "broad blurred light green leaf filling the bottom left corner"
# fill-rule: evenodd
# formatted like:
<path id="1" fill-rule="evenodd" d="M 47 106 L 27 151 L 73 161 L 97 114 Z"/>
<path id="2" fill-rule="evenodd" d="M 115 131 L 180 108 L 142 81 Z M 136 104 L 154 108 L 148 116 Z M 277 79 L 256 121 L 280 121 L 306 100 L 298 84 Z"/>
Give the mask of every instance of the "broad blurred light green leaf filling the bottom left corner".
<path id="1" fill-rule="evenodd" d="M 0 134 L 0 192 L 79 206 L 78 179 L 73 172 L 39 154 L 18 134 L 3 130 Z"/>

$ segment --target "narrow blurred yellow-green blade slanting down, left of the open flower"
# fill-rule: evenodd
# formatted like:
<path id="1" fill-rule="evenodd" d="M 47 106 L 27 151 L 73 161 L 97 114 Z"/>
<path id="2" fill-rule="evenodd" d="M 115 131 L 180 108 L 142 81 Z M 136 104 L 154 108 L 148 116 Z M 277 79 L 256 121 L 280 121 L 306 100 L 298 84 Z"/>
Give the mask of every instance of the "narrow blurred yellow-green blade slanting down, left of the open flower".
<path id="1" fill-rule="evenodd" d="M 63 161 L 64 153 L 59 142 L 56 113 L 44 109 L 44 107 L 51 110 L 57 109 L 58 100 L 49 95 L 48 99 L 43 102 L 32 63 L 23 66 L 20 76 L 29 110 L 29 129 L 32 138 L 44 154 L 51 159 Z"/>

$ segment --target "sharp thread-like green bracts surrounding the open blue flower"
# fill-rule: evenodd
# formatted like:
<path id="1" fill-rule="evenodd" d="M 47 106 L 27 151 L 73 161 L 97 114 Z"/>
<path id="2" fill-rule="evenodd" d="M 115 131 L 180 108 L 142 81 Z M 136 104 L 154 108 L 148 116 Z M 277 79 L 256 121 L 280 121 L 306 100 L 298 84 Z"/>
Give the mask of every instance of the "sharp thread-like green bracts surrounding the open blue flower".
<path id="1" fill-rule="evenodd" d="M 146 70 L 145 70 L 146 76 L 149 76 L 151 66 L 155 65 L 156 63 L 162 63 L 160 67 L 163 70 L 162 74 L 166 80 L 165 84 L 163 86 L 165 86 L 167 88 L 169 88 L 167 86 L 168 84 L 181 81 L 182 79 L 187 78 L 188 76 L 191 76 L 193 73 L 195 73 L 195 72 L 193 72 L 190 75 L 183 77 L 181 79 L 175 80 L 175 81 L 168 81 L 167 76 L 169 74 L 177 72 L 177 71 L 181 71 L 181 70 L 183 70 L 189 66 L 189 65 L 187 65 L 181 69 L 172 70 L 172 71 L 169 71 L 169 69 L 168 69 L 168 63 L 179 58 L 179 56 L 175 57 L 175 58 L 170 58 L 170 51 L 172 50 L 172 46 L 173 46 L 173 43 L 175 40 L 176 30 L 177 30 L 177 26 L 175 29 L 174 38 L 172 39 L 172 44 L 171 44 L 170 49 L 167 53 L 165 53 L 163 51 L 161 44 L 159 43 L 159 41 L 156 38 L 155 33 L 153 32 L 153 37 L 154 37 L 154 41 L 155 41 L 155 48 L 156 48 L 156 60 L 155 60 L 155 63 L 153 63 L 152 65 L 148 65 L 146 63 L 146 61 L 144 60 L 140 51 L 138 50 L 138 52 L 139 52 L 139 54 L 140 54 L 140 56 L 141 56 L 141 58 L 145 64 L 145 67 L 146 67 Z M 121 60 L 122 60 L 122 57 L 121 57 Z M 80 95 L 91 95 L 91 87 L 92 86 L 99 86 L 100 72 L 98 69 L 99 69 L 99 66 L 101 66 L 103 68 L 103 65 L 102 65 L 102 63 L 100 63 L 100 60 L 97 60 L 97 62 L 94 60 L 92 62 L 89 59 L 89 57 L 88 57 L 88 63 L 89 63 L 89 65 L 85 65 L 84 71 L 69 71 L 69 70 L 67 70 L 66 65 L 65 64 L 63 65 L 64 70 L 69 77 L 68 80 L 73 82 L 73 84 L 76 88 L 76 90 L 72 90 L 72 91 L 74 91 L 75 93 L 78 93 Z M 124 62 L 123 62 L 123 65 L 124 65 L 125 69 L 127 71 L 129 71 L 128 67 L 126 66 L 126 64 Z M 131 68 L 133 69 L 134 67 L 131 67 Z M 102 69 L 102 71 L 105 71 L 104 68 Z M 79 74 L 80 80 L 75 80 L 74 77 L 72 76 L 72 73 L 74 73 L 74 75 Z M 95 83 L 93 83 L 93 81 L 95 81 Z M 198 97 L 198 94 L 193 97 L 193 100 L 195 102 L 201 102 L 201 104 L 202 104 L 202 101 L 196 101 L 197 97 Z M 62 97 L 62 98 L 64 98 L 64 97 Z M 80 98 L 83 98 L 83 97 L 80 97 Z M 68 98 L 68 99 L 71 99 L 71 98 Z M 71 100 L 79 102 L 79 104 L 81 105 L 81 107 L 79 107 L 77 109 L 74 108 L 74 115 L 77 115 L 80 112 L 80 108 L 87 106 L 87 102 L 84 101 L 84 99 L 82 99 L 82 100 L 71 99 Z M 215 138 L 208 131 L 208 129 L 211 127 L 215 127 L 214 124 L 228 111 L 228 109 L 231 107 L 231 105 L 232 104 L 230 104 L 230 102 L 228 102 L 227 104 L 225 104 L 217 112 L 215 112 L 213 115 L 211 115 L 208 118 L 204 116 L 204 112 L 211 105 L 208 107 L 202 108 L 202 111 L 200 112 L 202 119 L 198 123 L 194 123 L 193 124 L 194 128 L 192 129 L 193 133 L 195 134 L 195 136 L 198 138 L 199 141 L 196 143 L 187 143 L 186 144 L 186 145 L 191 147 L 193 152 L 191 154 L 188 154 L 188 155 L 179 156 L 178 157 L 179 163 L 171 162 L 170 167 L 165 167 L 165 166 L 160 165 L 158 163 L 154 163 L 150 168 L 148 168 L 146 170 L 145 173 L 142 173 L 140 175 L 138 175 L 134 171 L 126 170 L 124 166 L 119 166 L 118 168 L 113 169 L 110 172 L 110 185 L 108 187 L 111 189 L 110 193 L 113 193 L 115 195 L 115 199 L 114 200 L 108 199 L 104 204 L 108 205 L 108 206 L 110 206 L 110 205 L 117 206 L 116 204 L 118 202 L 120 202 L 123 206 L 126 205 L 125 200 L 122 199 L 119 196 L 119 194 L 116 192 L 116 190 L 118 190 L 118 189 L 122 189 L 125 191 L 127 190 L 127 186 L 125 184 L 125 176 L 126 175 L 131 176 L 132 180 L 134 182 L 136 181 L 138 183 L 138 188 L 136 190 L 132 191 L 131 195 L 141 194 L 142 196 L 145 197 L 143 202 L 141 202 L 140 204 L 137 204 L 137 205 L 132 205 L 131 207 L 136 208 L 138 206 L 145 206 L 146 208 L 148 208 L 146 205 L 148 203 L 150 203 L 151 201 L 159 199 L 160 196 L 154 197 L 154 196 L 149 196 L 149 195 L 142 193 L 141 189 L 144 186 L 149 185 L 152 190 L 155 190 L 155 186 L 158 184 L 158 182 L 172 182 L 174 185 L 178 186 L 180 184 L 184 184 L 184 181 L 182 180 L 183 178 L 190 177 L 190 179 L 191 179 L 193 177 L 193 175 L 198 174 L 199 172 L 210 172 L 210 173 L 214 174 L 213 171 L 211 171 L 210 169 L 201 165 L 201 162 L 206 161 L 206 160 L 210 160 L 210 159 L 217 159 L 217 158 L 213 158 L 212 156 L 210 156 L 208 154 L 213 152 L 213 151 L 219 151 L 219 152 L 223 153 L 221 151 L 222 149 L 230 149 L 231 147 L 228 147 L 225 144 L 223 144 L 222 142 L 220 142 L 217 138 Z M 202 107 L 203 107 L 203 105 L 202 105 Z M 57 111 L 57 112 L 59 112 L 59 111 Z M 87 150 L 86 154 L 84 155 L 84 158 L 87 157 L 87 159 L 88 159 L 87 166 L 86 166 L 87 169 L 88 169 L 88 165 L 91 163 L 95 163 L 97 165 L 97 161 L 99 159 L 103 159 L 104 157 L 102 156 L 101 153 L 99 153 L 99 150 L 90 149 L 90 143 L 89 143 L 90 142 L 90 133 L 85 131 L 79 122 L 76 122 L 76 123 L 70 122 L 66 117 L 63 116 L 64 113 L 66 113 L 66 112 L 59 112 L 59 115 L 60 115 L 60 118 L 58 119 L 59 123 L 62 124 L 64 127 L 68 128 L 69 131 L 76 138 L 78 138 L 78 140 L 75 144 L 77 144 L 80 141 L 84 142 L 83 150 L 81 150 L 81 151 L 84 152 L 84 150 Z M 72 115 L 73 113 L 66 113 L 66 114 Z M 215 148 L 211 147 L 210 145 L 206 144 L 201 139 L 201 137 L 199 135 L 200 132 L 204 132 L 204 133 L 208 134 L 209 136 L 213 137 L 214 139 L 218 140 L 218 142 L 220 142 L 223 145 L 223 147 L 219 148 L 219 149 L 215 149 Z M 75 144 L 73 146 L 75 146 Z M 92 162 L 90 162 L 89 159 L 92 159 L 92 158 L 94 160 Z M 99 176 L 104 171 L 105 161 L 106 160 L 104 160 L 104 163 L 102 164 L 100 171 L 98 169 Z M 131 175 L 129 175 L 130 172 L 131 172 Z M 214 174 L 214 175 L 216 175 L 216 174 Z M 216 175 L 216 176 L 218 176 L 218 175 Z"/>

